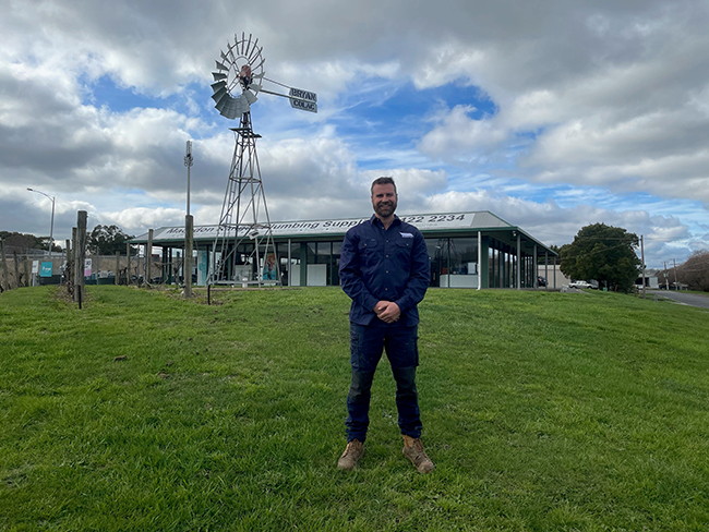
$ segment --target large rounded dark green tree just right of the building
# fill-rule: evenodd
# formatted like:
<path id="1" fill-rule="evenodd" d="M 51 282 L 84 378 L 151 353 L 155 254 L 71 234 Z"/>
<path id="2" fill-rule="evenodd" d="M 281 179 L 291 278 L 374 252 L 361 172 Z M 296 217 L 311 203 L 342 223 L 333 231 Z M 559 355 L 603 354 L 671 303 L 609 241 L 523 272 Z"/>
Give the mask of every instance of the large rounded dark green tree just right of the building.
<path id="1" fill-rule="evenodd" d="M 640 269 L 635 250 L 637 234 L 620 227 L 593 223 L 581 228 L 574 242 L 561 249 L 562 273 L 572 279 L 604 283 L 611 290 L 629 292 Z"/>

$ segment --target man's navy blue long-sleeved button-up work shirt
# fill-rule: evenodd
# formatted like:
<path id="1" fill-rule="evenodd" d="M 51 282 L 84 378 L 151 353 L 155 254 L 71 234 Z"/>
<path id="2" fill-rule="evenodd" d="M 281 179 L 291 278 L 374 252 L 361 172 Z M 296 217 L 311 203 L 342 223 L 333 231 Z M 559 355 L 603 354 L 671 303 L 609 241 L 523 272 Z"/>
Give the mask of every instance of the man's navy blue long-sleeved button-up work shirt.
<path id="1" fill-rule="evenodd" d="M 399 324 L 417 325 L 417 304 L 425 295 L 431 279 L 423 235 L 396 216 L 384 229 L 382 220 L 372 215 L 345 234 L 339 278 L 343 290 L 352 299 L 350 322 L 394 325 L 382 322 L 374 313 L 380 301 L 393 301 L 401 310 Z"/>

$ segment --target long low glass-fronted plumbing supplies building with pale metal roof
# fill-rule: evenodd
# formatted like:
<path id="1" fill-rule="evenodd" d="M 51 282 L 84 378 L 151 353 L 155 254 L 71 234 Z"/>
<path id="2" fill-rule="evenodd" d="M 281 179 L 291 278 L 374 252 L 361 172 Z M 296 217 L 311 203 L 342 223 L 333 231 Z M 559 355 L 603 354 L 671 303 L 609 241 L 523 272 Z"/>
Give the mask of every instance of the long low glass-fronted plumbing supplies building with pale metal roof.
<path id="1" fill-rule="evenodd" d="M 431 286 L 442 288 L 538 288 L 538 268 L 555 279 L 557 254 L 540 241 L 494 214 L 482 211 L 401 215 L 423 234 L 431 257 Z M 283 283 L 298 287 L 339 285 L 339 255 L 347 230 L 368 218 L 279 221 L 272 223 L 277 263 Z M 208 278 L 217 226 L 194 228 L 196 285 Z M 147 245 L 151 232 L 133 244 Z M 183 253 L 184 228 L 163 227 L 152 231 L 152 246 L 164 250 L 163 264 L 175 264 Z M 253 243 L 240 244 L 239 254 L 249 257 Z M 217 250 L 219 253 L 220 250 Z M 265 250 L 264 250 L 265 251 Z M 240 264 L 230 273 L 235 285 L 253 282 L 262 264 Z M 541 266 L 540 266 L 541 265 Z M 552 271 L 553 268 L 553 271 Z M 173 268 L 164 266 L 169 277 Z M 167 273 L 166 273 L 167 271 Z M 549 275 L 545 276 L 550 278 Z M 555 288 L 550 283 L 550 288 Z"/>

